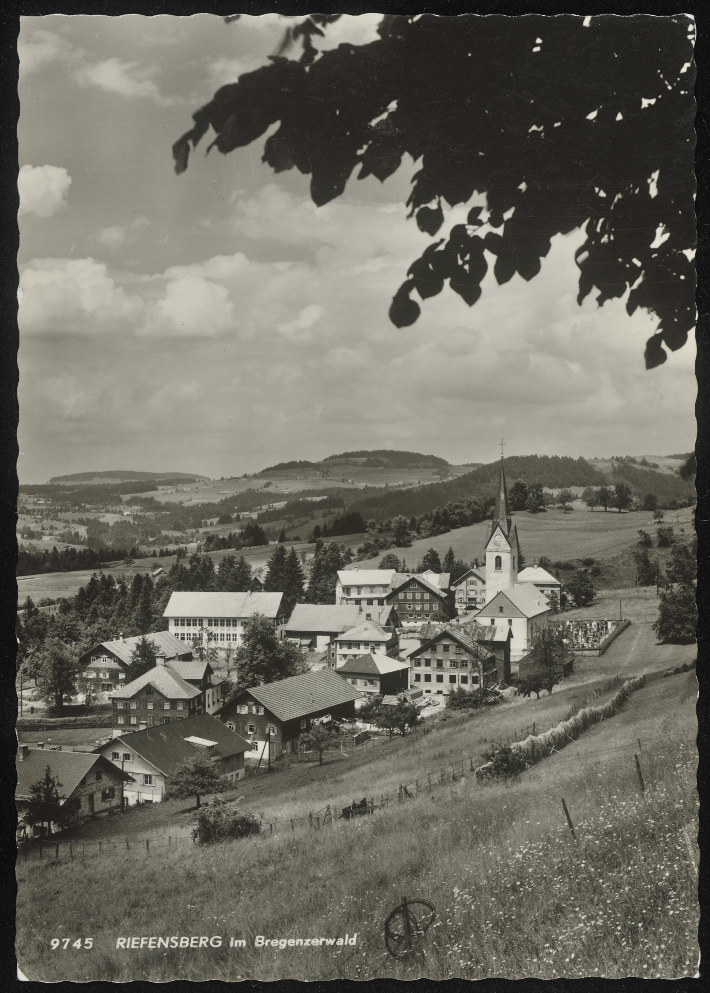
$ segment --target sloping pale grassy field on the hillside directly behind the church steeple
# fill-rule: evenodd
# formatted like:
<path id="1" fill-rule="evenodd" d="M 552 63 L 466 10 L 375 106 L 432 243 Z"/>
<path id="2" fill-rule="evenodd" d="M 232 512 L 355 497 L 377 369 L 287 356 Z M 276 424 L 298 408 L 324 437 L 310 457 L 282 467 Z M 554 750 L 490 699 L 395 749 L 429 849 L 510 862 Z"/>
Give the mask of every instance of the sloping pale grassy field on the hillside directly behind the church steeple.
<path id="1" fill-rule="evenodd" d="M 587 556 L 608 558 L 624 548 L 634 547 L 639 541 L 639 528 L 651 533 L 655 531 L 652 515 L 647 511 L 618 513 L 613 510 L 605 512 L 580 507 L 571 513 L 557 509 L 536 514 L 514 512 L 512 519 L 517 525 L 520 548 L 528 565 L 532 565 L 533 560 L 540 555 L 547 555 L 553 561 Z M 682 510 L 667 511 L 663 523 L 684 526 L 686 530 L 690 530 L 692 519 L 692 507 L 684 507 Z M 478 557 L 482 562 L 490 526 L 490 521 L 481 521 L 479 524 L 459 527 L 446 534 L 415 541 L 409 548 L 390 550 L 400 558 L 403 556 L 410 568 L 423 558 L 429 548 L 435 548 L 443 558 L 448 548 L 452 547 L 457 558 L 470 562 Z M 349 568 L 375 569 L 380 558 L 381 556 L 367 559 L 364 565 L 354 562 Z"/>

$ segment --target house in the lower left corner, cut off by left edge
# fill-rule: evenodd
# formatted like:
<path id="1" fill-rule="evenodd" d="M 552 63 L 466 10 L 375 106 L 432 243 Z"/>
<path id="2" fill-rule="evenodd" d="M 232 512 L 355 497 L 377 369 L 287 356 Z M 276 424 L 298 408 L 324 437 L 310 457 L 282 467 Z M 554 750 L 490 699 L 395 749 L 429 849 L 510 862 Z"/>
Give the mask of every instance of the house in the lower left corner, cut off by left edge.
<path id="1" fill-rule="evenodd" d="M 42 747 L 20 745 L 16 762 L 15 802 L 18 828 L 23 834 L 29 830 L 34 837 L 40 837 L 46 830 L 39 824 L 32 828 L 26 825 L 23 811 L 27 809 L 32 795 L 30 787 L 44 778 L 48 766 L 58 783 L 61 805 L 66 811 L 63 817 L 65 825 L 78 824 L 86 817 L 123 806 L 123 782 L 129 777 L 102 756 L 92 752 L 46 752 Z M 52 830 L 62 826 L 53 825 Z"/>

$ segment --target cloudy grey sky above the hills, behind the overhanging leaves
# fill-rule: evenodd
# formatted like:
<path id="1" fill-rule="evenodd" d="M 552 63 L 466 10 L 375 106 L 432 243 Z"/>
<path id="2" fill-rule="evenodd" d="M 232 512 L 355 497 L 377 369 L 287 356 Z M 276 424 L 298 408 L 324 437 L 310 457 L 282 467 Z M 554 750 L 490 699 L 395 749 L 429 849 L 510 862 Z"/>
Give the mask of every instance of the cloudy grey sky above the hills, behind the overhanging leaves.
<path id="1" fill-rule="evenodd" d="M 344 17 L 325 44 L 376 24 Z M 491 265 L 474 307 L 445 288 L 397 330 L 391 297 L 430 243 L 406 217 L 414 162 L 321 208 L 310 177 L 261 162 L 271 132 L 226 156 L 206 157 L 208 136 L 175 175 L 194 111 L 265 65 L 286 25 L 22 18 L 20 481 L 219 478 L 377 448 L 491 462 L 500 437 L 506 455 L 689 451 L 694 345 L 646 371 L 654 317 L 577 305 L 581 230 L 529 283 L 498 287 Z"/>

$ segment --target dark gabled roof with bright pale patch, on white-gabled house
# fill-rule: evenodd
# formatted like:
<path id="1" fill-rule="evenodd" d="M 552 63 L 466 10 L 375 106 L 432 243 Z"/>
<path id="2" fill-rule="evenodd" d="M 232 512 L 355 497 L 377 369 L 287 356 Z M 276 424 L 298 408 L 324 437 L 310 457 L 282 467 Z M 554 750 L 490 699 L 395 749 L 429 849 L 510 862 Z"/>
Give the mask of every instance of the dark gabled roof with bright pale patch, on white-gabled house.
<path id="1" fill-rule="evenodd" d="M 249 742 L 227 728 L 226 724 L 217 721 L 212 714 L 200 714 L 185 721 L 173 721 L 170 724 L 144 728 L 143 731 L 119 735 L 106 745 L 101 745 L 100 751 L 118 751 L 116 745 L 120 742 L 123 748 L 135 752 L 141 759 L 154 766 L 159 773 L 172 776 L 176 767 L 186 759 L 204 754 L 201 749 L 191 745 L 186 740 L 188 738 L 202 738 L 214 742 L 213 755 L 220 759 L 251 751 Z"/>

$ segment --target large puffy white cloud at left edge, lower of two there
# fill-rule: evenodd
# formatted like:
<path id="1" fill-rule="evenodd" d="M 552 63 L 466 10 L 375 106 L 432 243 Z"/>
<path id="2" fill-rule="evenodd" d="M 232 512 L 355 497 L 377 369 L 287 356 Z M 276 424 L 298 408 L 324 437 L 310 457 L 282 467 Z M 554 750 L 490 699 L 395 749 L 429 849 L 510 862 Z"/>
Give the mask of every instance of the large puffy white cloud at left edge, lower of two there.
<path id="1" fill-rule="evenodd" d="M 22 333 L 101 335 L 125 329 L 143 310 L 92 258 L 33 259 L 20 288 Z"/>

